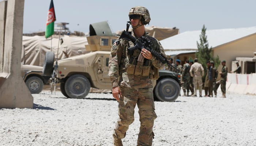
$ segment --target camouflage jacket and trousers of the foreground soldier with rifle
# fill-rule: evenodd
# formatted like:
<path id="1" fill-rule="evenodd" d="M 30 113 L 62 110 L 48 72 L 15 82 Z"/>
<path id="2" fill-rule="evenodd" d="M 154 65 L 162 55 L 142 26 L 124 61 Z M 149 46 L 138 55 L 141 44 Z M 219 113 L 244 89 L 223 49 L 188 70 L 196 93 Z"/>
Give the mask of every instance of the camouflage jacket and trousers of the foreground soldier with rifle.
<path id="1" fill-rule="evenodd" d="M 131 34 L 135 37 L 133 31 Z M 151 47 L 155 51 L 164 54 L 163 47 L 157 39 L 148 36 L 146 32 L 144 37 L 153 42 Z M 150 60 L 148 76 L 128 74 L 130 58 L 138 57 L 140 54 L 140 51 L 134 50 L 133 54 L 129 55 L 127 48 L 132 46 L 134 46 L 132 42 L 128 42 L 126 39 L 118 39 L 111 49 L 109 58 L 109 77 L 112 81 L 112 87 L 119 86 L 122 94 L 118 105 L 119 119 L 114 128 L 113 137 L 114 139 L 125 137 L 129 125 L 134 121 L 134 108 L 137 104 L 140 116 L 138 146 L 151 146 L 154 136 L 154 120 L 157 118 L 153 98 L 152 79 L 154 70 L 152 68 L 161 69 L 164 64 L 153 56 Z"/>

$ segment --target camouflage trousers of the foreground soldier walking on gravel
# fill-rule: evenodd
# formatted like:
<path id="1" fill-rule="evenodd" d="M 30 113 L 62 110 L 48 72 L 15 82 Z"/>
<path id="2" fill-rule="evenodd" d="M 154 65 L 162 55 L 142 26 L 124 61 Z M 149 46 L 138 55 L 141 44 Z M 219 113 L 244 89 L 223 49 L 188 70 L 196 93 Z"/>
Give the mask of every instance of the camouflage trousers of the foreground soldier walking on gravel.
<path id="1" fill-rule="evenodd" d="M 140 131 L 138 135 L 137 146 L 151 146 L 153 141 L 155 104 L 153 97 L 153 88 L 128 88 L 120 87 L 122 96 L 118 105 L 118 115 L 116 127 L 113 136 L 124 138 L 129 125 L 134 121 L 134 108 L 137 104 L 140 116 Z"/>

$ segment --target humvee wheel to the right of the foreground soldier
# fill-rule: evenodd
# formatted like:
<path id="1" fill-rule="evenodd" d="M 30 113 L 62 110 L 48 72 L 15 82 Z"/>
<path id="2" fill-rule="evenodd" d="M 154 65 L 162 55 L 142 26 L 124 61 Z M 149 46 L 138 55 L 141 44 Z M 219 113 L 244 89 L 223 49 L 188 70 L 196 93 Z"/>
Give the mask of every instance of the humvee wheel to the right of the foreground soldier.
<path id="1" fill-rule="evenodd" d="M 154 94 L 160 101 L 175 101 L 180 95 L 180 85 L 172 78 L 163 78 L 157 82 Z"/>

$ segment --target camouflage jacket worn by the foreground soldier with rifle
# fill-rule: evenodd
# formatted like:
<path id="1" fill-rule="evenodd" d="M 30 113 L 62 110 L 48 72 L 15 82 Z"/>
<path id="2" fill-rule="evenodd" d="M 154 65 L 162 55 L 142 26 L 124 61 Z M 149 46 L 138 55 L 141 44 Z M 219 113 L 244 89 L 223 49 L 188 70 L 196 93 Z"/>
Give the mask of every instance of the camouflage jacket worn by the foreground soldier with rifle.
<path id="1" fill-rule="evenodd" d="M 133 37 L 135 35 L 131 34 Z M 151 45 L 152 49 L 157 51 L 158 53 L 162 53 L 165 55 L 164 50 L 160 42 L 150 37 L 149 35 L 144 34 L 144 37 L 153 42 Z M 152 78 L 154 74 L 154 70 L 152 66 L 157 69 L 162 69 L 164 64 L 158 61 L 154 56 L 150 60 L 150 74 L 149 76 L 136 76 L 132 74 L 127 74 L 127 66 L 131 57 L 138 57 L 140 51 L 134 50 L 132 55 L 128 54 L 128 48 L 133 47 L 134 44 L 131 41 L 127 41 L 126 39 L 117 39 L 117 41 L 113 44 L 110 57 L 109 57 L 109 77 L 112 82 L 112 87 L 124 86 L 130 88 L 150 88 L 152 85 Z"/>

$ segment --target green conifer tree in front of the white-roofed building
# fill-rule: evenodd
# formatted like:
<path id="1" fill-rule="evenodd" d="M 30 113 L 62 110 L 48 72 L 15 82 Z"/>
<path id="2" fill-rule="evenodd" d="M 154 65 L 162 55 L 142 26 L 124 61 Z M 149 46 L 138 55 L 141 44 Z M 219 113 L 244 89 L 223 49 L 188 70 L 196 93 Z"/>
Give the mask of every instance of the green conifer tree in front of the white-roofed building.
<path id="1" fill-rule="evenodd" d="M 198 59 L 198 62 L 202 64 L 204 70 L 206 70 L 207 68 L 206 62 L 208 60 L 214 61 L 214 65 L 217 68 L 220 65 L 221 61 L 219 60 L 219 55 L 217 55 L 217 57 L 212 56 L 212 47 L 209 48 L 206 35 L 206 27 L 204 25 L 200 34 L 200 43 L 197 41 L 196 43 L 198 49 L 198 52 L 196 52 L 196 58 Z M 204 73 L 206 74 L 206 72 Z M 203 75 L 203 81 L 205 78 L 205 74 Z"/>

